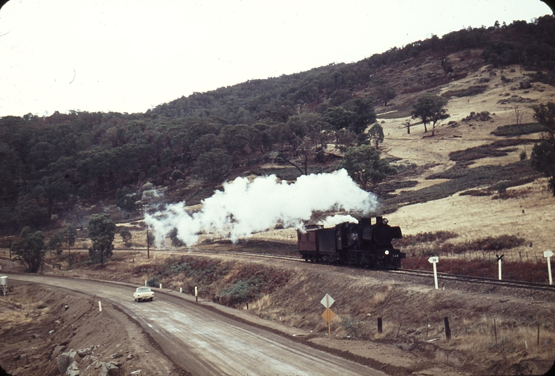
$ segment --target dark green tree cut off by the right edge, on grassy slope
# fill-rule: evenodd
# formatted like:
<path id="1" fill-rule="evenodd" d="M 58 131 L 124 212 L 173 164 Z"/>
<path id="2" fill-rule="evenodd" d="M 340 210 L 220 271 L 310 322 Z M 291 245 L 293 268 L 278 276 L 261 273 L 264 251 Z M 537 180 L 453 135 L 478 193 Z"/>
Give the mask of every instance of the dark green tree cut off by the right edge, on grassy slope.
<path id="1" fill-rule="evenodd" d="M 542 141 L 533 146 L 531 165 L 548 178 L 549 190 L 555 196 L 555 103 L 533 106 L 533 118 L 545 127 Z"/>

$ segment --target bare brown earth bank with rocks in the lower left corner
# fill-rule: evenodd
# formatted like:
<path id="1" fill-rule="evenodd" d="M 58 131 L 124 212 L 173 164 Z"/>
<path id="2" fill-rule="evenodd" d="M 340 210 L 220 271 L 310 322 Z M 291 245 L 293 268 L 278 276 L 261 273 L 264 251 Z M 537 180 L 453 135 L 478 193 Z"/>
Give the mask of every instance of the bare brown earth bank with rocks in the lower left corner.
<path id="1" fill-rule="evenodd" d="M 93 293 L 76 294 L 13 280 L 0 297 L 0 364 L 14 376 L 179 375 L 143 330 Z M 74 364 L 73 364 L 74 363 Z M 65 368 L 62 370 L 62 368 Z M 119 374 L 119 373 L 118 373 Z M 185 373 L 181 373 L 185 375 Z"/>

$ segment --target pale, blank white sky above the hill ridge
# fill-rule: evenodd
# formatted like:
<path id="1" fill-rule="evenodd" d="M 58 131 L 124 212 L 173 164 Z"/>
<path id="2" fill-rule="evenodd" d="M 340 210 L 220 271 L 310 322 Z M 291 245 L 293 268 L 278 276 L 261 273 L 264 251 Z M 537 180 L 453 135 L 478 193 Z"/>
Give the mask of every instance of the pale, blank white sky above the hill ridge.
<path id="1" fill-rule="evenodd" d="M 10 0 L 0 10 L 0 116 L 144 112 L 547 14 L 540 0 Z"/>

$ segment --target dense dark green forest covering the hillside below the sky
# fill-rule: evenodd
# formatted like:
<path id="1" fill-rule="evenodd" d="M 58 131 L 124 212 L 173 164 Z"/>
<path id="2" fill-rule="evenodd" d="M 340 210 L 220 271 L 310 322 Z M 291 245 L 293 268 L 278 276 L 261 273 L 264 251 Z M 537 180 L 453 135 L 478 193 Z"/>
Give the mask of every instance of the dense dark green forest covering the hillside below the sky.
<path id="1" fill-rule="evenodd" d="M 330 64 L 267 80 L 194 93 L 144 114 L 56 112 L 0 118 L 0 229 L 40 229 L 79 200 L 115 198 L 146 181 L 168 185 L 195 177 L 213 188 L 263 159 L 299 174 L 339 149 L 371 144 L 364 133 L 375 108 L 400 93 L 458 78 L 449 55 L 479 49 L 484 64 L 520 64 L 530 80 L 555 83 L 555 19 L 467 28 L 432 36 L 352 64 Z M 432 56 L 443 74 L 392 85 L 384 67 Z M 119 191 L 118 191 L 119 190 Z"/>

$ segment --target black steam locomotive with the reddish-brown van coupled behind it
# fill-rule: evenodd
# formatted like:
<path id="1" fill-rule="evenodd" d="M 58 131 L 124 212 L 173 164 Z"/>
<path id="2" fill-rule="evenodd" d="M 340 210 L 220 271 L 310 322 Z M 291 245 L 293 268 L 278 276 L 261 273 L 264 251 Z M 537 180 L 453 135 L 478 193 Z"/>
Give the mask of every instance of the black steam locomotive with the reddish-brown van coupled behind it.
<path id="1" fill-rule="evenodd" d="M 306 232 L 297 231 L 300 256 L 305 261 L 361 265 L 373 269 L 398 269 L 406 253 L 393 248 L 391 240 L 402 238 L 399 226 L 389 226 L 387 220 L 362 218 L 358 224 L 343 222 L 331 229 L 311 226 Z"/>

